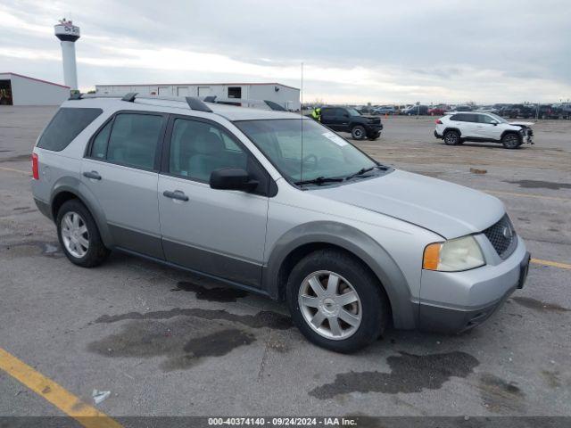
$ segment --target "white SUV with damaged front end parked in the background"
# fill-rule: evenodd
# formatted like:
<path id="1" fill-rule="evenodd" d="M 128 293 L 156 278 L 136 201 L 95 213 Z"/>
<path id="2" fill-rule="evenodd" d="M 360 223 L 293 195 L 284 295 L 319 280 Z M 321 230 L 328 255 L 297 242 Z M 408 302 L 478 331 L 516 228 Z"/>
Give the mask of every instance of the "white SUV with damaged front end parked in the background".
<path id="1" fill-rule="evenodd" d="M 492 113 L 476 111 L 446 113 L 436 119 L 434 136 L 445 144 L 456 145 L 465 141 L 501 143 L 506 149 L 517 149 L 532 142 L 532 122 L 508 122 Z"/>

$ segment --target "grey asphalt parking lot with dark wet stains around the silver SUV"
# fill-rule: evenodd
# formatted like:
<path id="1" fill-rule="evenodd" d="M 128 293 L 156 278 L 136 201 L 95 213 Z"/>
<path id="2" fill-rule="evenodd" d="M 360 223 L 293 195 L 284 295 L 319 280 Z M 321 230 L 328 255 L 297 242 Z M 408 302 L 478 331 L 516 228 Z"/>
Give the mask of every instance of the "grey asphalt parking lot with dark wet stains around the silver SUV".
<path id="1" fill-rule="evenodd" d="M 500 198 L 534 263 L 470 333 L 390 330 L 346 356 L 246 292 L 122 254 L 71 265 L 29 192 L 29 152 L 53 113 L 0 108 L 0 350 L 85 403 L 97 389 L 112 392 L 95 406 L 111 416 L 571 416 L 571 121 L 540 121 L 536 144 L 515 151 L 446 146 L 434 118 L 387 118 L 357 143 Z M 0 370 L 0 416 L 63 415 L 49 393 Z"/>

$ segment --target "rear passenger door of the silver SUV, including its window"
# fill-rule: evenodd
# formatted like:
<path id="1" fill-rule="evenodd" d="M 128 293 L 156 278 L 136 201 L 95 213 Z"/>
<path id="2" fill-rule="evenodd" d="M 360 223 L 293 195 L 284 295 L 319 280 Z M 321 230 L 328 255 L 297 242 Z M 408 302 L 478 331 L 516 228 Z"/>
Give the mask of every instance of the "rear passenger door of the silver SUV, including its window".
<path id="1" fill-rule="evenodd" d="M 100 203 L 115 245 L 163 258 L 157 197 L 167 115 L 120 111 L 91 139 L 81 180 Z"/>

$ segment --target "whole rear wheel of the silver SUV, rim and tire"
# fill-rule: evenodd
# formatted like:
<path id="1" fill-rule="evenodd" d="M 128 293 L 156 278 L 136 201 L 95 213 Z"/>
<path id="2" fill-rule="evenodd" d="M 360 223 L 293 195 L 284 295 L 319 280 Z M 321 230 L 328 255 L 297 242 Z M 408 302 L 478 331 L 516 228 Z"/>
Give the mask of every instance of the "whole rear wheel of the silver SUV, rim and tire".
<path id="1" fill-rule="evenodd" d="M 109 255 L 110 251 L 103 245 L 94 218 L 78 200 L 63 203 L 57 213 L 56 225 L 63 253 L 71 263 L 93 268 L 103 263 Z"/>

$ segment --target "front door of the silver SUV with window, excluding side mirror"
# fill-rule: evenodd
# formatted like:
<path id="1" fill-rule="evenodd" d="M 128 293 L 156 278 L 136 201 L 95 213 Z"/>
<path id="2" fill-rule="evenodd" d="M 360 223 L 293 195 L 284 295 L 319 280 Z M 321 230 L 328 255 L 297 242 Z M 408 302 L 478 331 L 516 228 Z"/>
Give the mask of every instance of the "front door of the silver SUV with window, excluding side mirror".
<path id="1" fill-rule="evenodd" d="M 203 274 L 259 287 L 268 197 L 211 189 L 214 169 L 242 168 L 263 182 L 252 155 L 206 119 L 171 119 L 159 176 L 162 245 L 167 260 Z"/>

